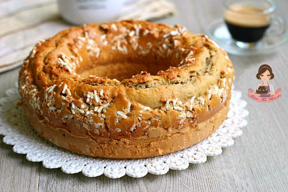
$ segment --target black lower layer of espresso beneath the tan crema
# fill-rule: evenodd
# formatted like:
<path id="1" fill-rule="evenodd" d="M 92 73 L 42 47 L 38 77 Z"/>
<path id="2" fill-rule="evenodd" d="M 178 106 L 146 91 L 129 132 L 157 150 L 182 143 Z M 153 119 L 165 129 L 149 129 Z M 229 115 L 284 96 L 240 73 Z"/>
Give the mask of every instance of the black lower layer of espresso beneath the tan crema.
<path id="1" fill-rule="evenodd" d="M 259 41 L 263 38 L 264 32 L 269 27 L 269 25 L 262 27 L 243 27 L 236 24 L 231 24 L 226 20 L 225 23 L 233 39 L 243 42 Z"/>

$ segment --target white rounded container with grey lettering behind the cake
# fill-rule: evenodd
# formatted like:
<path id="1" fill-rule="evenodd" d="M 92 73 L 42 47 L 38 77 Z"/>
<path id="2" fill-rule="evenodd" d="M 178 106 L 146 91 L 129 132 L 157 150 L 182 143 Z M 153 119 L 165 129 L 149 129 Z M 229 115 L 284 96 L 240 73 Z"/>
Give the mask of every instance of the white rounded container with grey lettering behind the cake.
<path id="1" fill-rule="evenodd" d="M 60 14 L 69 23 L 82 25 L 117 19 L 125 2 L 131 0 L 58 0 Z"/>

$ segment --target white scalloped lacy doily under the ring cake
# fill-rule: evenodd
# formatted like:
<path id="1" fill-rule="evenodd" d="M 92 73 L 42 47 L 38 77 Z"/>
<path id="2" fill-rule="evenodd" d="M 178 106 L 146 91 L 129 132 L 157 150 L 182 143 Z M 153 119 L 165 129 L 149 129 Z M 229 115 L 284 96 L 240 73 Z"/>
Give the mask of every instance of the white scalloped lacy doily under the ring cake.
<path id="1" fill-rule="evenodd" d="M 34 131 L 26 119 L 17 88 L 6 91 L 0 98 L 0 134 L 3 142 L 14 145 L 13 151 L 27 154 L 29 161 L 41 162 L 46 168 L 60 168 L 65 173 L 82 172 L 87 177 L 104 174 L 110 178 L 144 177 L 148 172 L 163 175 L 169 169 L 183 170 L 189 164 L 204 163 L 207 156 L 220 155 L 221 147 L 234 144 L 233 138 L 242 134 L 241 128 L 247 125 L 244 119 L 248 111 L 247 102 L 240 99 L 241 92 L 232 90 L 230 111 L 226 120 L 210 137 L 182 151 L 145 159 L 103 159 L 79 155 L 61 149 L 43 139 Z"/>

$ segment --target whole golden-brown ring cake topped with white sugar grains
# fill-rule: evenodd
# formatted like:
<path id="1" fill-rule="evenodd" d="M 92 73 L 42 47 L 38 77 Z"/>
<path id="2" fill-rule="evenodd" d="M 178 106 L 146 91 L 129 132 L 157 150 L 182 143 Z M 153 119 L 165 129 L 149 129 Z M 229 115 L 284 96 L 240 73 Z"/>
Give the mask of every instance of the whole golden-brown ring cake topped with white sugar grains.
<path id="1" fill-rule="evenodd" d="M 144 158 L 210 136 L 229 110 L 233 66 L 203 34 L 121 21 L 39 41 L 20 70 L 27 118 L 76 153 Z"/>

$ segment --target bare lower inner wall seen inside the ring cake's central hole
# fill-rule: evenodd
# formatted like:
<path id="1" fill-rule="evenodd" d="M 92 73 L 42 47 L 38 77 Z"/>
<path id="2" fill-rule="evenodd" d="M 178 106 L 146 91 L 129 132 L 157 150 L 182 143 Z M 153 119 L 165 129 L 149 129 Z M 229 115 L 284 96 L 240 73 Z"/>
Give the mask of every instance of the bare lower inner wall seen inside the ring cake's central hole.
<path id="1" fill-rule="evenodd" d="M 167 70 L 171 66 L 171 63 L 164 61 L 120 61 L 110 63 L 97 63 L 96 65 L 84 69 L 80 72 L 80 76 L 88 78 L 90 75 L 96 75 L 99 77 L 107 76 L 110 79 L 117 79 L 123 81 L 124 79 L 130 79 L 133 75 L 139 74 L 141 71 L 146 71 L 151 75 L 157 75 L 157 72 Z"/>

